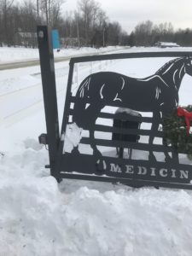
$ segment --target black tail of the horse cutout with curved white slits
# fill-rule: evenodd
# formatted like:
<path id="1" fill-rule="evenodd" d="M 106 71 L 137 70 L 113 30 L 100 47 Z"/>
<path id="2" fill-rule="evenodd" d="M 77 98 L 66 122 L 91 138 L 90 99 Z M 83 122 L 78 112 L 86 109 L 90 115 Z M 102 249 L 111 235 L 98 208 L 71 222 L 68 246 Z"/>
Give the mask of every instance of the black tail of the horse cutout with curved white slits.
<path id="1" fill-rule="evenodd" d="M 84 110 L 86 108 L 86 104 L 90 90 L 90 76 L 85 78 L 83 82 L 79 85 L 79 89 L 77 90 L 74 107 L 73 107 L 73 122 L 75 122 L 79 127 L 84 128 L 86 122 L 86 114 Z"/>

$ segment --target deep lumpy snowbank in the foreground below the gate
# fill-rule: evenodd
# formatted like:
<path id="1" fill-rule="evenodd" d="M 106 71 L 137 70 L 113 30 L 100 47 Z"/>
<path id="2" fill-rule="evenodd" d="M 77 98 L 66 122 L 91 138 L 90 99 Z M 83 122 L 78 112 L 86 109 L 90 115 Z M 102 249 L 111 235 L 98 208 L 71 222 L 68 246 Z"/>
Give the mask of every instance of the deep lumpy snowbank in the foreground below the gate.
<path id="1" fill-rule="evenodd" d="M 0 167 L 0 255 L 191 255 L 192 194 L 109 183 L 56 183 L 26 140 Z"/>

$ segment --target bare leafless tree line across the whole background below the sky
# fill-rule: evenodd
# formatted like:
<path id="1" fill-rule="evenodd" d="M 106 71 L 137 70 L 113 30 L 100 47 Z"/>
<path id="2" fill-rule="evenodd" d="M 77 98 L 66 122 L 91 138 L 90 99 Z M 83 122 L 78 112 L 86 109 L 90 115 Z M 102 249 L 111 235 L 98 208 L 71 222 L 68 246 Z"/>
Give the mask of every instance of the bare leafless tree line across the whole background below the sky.
<path id="1" fill-rule="evenodd" d="M 77 9 L 64 12 L 65 0 L 0 0 L 0 46 L 37 47 L 37 25 L 58 29 L 61 42 L 73 46 L 151 46 L 158 41 L 192 45 L 192 30 L 174 30 L 171 23 L 147 20 L 128 34 L 110 21 L 96 0 L 79 0 Z M 70 0 L 69 0 L 70 1 Z"/>

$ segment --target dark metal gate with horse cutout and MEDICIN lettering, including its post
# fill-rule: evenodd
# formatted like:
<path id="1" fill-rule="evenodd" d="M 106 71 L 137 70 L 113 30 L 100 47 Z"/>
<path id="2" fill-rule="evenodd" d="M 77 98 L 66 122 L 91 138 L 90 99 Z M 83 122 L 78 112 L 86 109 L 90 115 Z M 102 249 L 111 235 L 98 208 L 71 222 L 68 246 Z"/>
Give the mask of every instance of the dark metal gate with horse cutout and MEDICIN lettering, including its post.
<path id="1" fill-rule="evenodd" d="M 49 145 L 48 167 L 57 180 L 192 189 L 190 161 L 165 143 L 162 130 L 162 119 L 179 104 L 184 75 L 192 75 L 191 52 L 72 58 L 59 132 L 54 57 L 46 26 L 38 26 L 38 47 L 47 125 L 44 143 Z M 90 73 L 85 69 L 79 84 L 73 83 L 77 65 L 143 58 L 158 58 L 162 63 L 147 78 L 112 71 Z"/>

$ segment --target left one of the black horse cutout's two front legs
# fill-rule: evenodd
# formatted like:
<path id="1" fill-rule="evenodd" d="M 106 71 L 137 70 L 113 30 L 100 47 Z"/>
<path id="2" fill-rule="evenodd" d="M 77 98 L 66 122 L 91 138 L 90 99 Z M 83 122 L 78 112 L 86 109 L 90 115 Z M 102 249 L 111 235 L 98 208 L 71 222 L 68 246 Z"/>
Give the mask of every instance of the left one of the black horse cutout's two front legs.
<path id="1" fill-rule="evenodd" d="M 160 111 L 155 111 L 153 113 L 153 119 L 152 119 L 152 125 L 151 125 L 151 135 L 149 136 L 149 139 L 148 139 L 149 147 L 153 146 L 155 133 L 158 131 L 159 125 L 160 125 Z M 154 152 L 153 152 L 152 148 L 149 149 L 148 160 L 156 161 L 156 158 L 154 156 Z"/>

